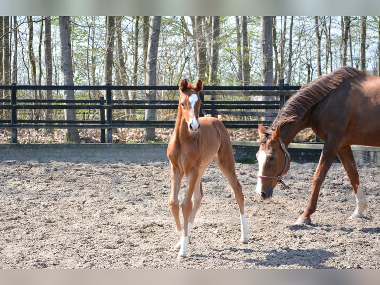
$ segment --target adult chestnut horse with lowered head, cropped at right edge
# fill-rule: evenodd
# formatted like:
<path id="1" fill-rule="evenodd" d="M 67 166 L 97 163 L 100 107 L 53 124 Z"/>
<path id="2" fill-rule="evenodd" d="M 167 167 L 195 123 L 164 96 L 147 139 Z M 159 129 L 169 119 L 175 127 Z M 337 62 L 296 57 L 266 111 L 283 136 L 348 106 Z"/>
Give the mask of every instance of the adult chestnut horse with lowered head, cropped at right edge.
<path id="1" fill-rule="evenodd" d="M 301 130 L 311 127 L 324 141 L 313 178 L 310 200 L 296 224 L 310 224 L 317 209 L 319 189 L 336 155 L 353 187 L 356 210 L 350 218 L 365 217 L 366 198 L 351 144 L 380 146 L 380 77 L 352 67 L 341 67 L 304 85 L 281 108 L 272 126 L 258 127 L 256 154 L 259 168 L 256 193 L 270 199 L 276 183 L 288 171 L 289 143 Z"/>

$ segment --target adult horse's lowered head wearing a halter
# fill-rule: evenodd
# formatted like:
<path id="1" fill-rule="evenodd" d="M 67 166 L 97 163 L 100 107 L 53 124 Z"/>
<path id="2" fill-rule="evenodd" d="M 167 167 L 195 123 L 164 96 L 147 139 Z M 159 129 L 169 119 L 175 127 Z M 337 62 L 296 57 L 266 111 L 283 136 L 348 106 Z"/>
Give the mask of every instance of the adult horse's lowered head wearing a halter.
<path id="1" fill-rule="evenodd" d="M 258 126 L 260 143 L 256 158 L 258 160 L 256 193 L 261 200 L 272 198 L 277 182 L 287 187 L 281 177 L 288 172 L 290 165 L 289 152 L 280 139 L 280 126 L 269 133 L 262 125 Z"/>

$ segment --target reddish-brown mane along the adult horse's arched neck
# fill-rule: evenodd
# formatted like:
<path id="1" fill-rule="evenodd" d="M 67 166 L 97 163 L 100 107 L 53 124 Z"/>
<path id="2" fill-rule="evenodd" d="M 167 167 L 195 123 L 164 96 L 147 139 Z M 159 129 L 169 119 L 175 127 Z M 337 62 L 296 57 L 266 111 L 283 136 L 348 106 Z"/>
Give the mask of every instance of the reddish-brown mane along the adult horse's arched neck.
<path id="1" fill-rule="evenodd" d="M 281 108 L 269 129 L 275 130 L 278 125 L 302 120 L 311 108 L 326 97 L 330 91 L 335 90 L 343 79 L 363 74 L 365 74 L 363 71 L 345 66 L 303 85 Z"/>

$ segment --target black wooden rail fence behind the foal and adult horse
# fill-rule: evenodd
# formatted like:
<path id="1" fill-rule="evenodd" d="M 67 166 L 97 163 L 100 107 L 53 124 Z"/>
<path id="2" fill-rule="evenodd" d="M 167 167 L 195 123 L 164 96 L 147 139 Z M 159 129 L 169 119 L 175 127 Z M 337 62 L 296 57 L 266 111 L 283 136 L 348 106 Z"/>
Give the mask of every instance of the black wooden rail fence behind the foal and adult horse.
<path id="1" fill-rule="evenodd" d="M 259 123 L 270 123 L 286 100 L 300 86 L 204 86 L 200 116 L 222 116 L 226 128 L 257 128 Z M 173 128 L 175 120 L 120 120 L 113 118 L 113 110 L 145 110 L 178 108 L 176 100 L 114 100 L 115 90 L 178 90 L 178 86 L 30 86 L 0 85 L 11 90 L 9 99 L 0 99 L 0 110 L 10 110 L 10 118 L 0 119 L 0 129 L 12 130 L 12 143 L 17 143 L 17 129 L 100 129 L 101 143 L 112 143 L 114 128 Z M 93 100 L 18 99 L 22 90 L 102 90 L 105 97 Z M 262 100 L 269 98 L 268 100 Z M 239 100 L 237 99 L 239 97 Z M 244 98 L 244 99 L 242 99 Z M 21 110 L 98 110 L 96 120 L 19 119 Z M 243 119 L 242 119 L 243 118 Z M 107 136 L 106 136 L 107 131 Z"/>

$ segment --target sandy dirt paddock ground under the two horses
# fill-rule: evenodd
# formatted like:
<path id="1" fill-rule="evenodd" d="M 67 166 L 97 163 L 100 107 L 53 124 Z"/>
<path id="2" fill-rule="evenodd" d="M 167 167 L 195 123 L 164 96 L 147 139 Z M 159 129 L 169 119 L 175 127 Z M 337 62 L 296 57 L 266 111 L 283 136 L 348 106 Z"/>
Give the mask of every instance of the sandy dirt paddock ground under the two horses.
<path id="1" fill-rule="evenodd" d="M 3 269 L 379 269 L 380 168 L 359 165 L 366 219 L 334 163 L 310 226 L 293 223 L 310 195 L 316 163 L 292 162 L 270 203 L 254 193 L 256 164 L 237 164 L 249 244 L 227 180 L 212 164 L 191 230 L 188 258 L 169 211 L 169 163 L 0 161 Z M 182 193 L 185 189 L 183 181 Z M 182 197 L 182 196 L 181 196 Z"/>

